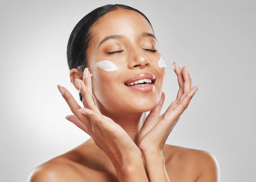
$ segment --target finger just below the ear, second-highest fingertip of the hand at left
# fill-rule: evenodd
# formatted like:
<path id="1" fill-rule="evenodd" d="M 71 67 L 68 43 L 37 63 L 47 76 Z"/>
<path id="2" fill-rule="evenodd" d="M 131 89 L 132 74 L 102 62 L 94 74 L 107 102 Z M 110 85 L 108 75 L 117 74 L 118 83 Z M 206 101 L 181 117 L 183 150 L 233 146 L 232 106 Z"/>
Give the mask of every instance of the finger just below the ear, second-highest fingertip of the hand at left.
<path id="1" fill-rule="evenodd" d="M 84 82 L 80 79 L 76 79 L 75 83 L 76 83 L 76 86 L 79 88 L 79 92 L 82 94 L 86 107 L 93 110 L 94 112 L 100 113 L 100 110 L 95 105 L 92 99 L 92 95 L 90 94 Z"/>

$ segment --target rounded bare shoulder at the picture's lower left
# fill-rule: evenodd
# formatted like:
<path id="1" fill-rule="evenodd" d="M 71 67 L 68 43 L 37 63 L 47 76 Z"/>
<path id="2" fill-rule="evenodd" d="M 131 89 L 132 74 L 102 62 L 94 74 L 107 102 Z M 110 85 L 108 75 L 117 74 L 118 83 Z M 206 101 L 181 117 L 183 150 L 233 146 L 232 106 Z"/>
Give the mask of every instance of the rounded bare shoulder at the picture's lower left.
<path id="1" fill-rule="evenodd" d="M 58 156 L 33 169 L 27 182 L 76 182 L 82 180 L 79 170 L 68 159 Z"/>

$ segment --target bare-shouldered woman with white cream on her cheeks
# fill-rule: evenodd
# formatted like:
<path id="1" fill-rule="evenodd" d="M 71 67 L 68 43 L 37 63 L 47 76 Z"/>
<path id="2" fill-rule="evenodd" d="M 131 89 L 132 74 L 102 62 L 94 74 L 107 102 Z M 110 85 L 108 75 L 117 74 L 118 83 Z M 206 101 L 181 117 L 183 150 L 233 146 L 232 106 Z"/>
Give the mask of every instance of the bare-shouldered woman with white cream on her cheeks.
<path id="1" fill-rule="evenodd" d="M 119 4 L 93 10 L 74 27 L 67 59 L 84 108 L 58 85 L 74 113 L 66 118 L 91 138 L 36 167 L 28 181 L 218 181 L 210 153 L 165 144 L 198 87 L 174 62 L 180 88 L 160 115 L 166 64 L 143 13 Z"/>

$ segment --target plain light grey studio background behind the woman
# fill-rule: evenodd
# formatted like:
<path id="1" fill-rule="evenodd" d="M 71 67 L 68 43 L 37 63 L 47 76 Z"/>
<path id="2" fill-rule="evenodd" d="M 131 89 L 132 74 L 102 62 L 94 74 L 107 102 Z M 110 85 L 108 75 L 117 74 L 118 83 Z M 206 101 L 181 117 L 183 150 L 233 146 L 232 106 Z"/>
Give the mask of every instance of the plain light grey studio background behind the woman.
<path id="1" fill-rule="evenodd" d="M 166 61 L 162 113 L 176 98 L 171 65 L 187 65 L 199 90 L 166 143 L 210 152 L 222 182 L 255 180 L 255 1 L 1 1 L 1 181 L 26 181 L 36 166 L 89 138 L 57 85 L 69 80 L 69 35 L 87 13 L 125 4 L 151 21 Z M 82 103 L 79 102 L 82 106 Z"/>

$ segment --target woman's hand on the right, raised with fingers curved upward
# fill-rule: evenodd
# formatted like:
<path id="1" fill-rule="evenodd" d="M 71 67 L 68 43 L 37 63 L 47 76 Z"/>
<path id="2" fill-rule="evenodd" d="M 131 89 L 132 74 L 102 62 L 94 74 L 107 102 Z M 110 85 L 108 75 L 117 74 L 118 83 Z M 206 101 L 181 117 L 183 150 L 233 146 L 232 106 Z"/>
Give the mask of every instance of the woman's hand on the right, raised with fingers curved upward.
<path id="1" fill-rule="evenodd" d="M 162 154 L 167 137 L 199 88 L 197 86 L 191 88 L 192 80 L 187 66 L 181 69 L 177 62 L 174 62 L 173 65 L 179 83 L 177 99 L 169 105 L 164 114 L 160 115 L 165 97 L 162 92 L 159 103 L 146 117 L 137 140 L 137 146 L 144 154 Z"/>

